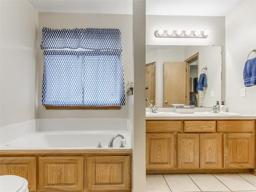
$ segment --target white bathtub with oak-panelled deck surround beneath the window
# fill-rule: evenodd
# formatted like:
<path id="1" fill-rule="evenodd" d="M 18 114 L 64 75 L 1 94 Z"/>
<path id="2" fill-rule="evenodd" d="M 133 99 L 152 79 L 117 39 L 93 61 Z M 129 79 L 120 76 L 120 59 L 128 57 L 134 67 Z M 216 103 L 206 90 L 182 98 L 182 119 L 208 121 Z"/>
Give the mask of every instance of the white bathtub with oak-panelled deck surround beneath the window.
<path id="1" fill-rule="evenodd" d="M 18 128 L 4 134 L 19 133 Z M 39 119 L 38 130 L 1 143 L 0 175 L 26 178 L 30 192 L 131 191 L 128 119 Z M 124 148 L 119 148 L 119 137 L 108 148 L 115 134 L 124 136 Z M 98 141 L 102 148 L 96 147 Z"/>

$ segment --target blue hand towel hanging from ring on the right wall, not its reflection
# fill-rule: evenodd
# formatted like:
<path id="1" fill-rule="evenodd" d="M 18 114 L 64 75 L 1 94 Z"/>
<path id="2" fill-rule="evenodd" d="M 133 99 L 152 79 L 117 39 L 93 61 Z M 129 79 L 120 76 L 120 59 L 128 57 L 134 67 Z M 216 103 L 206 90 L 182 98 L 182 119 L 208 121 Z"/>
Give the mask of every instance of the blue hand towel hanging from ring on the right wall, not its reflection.
<path id="1" fill-rule="evenodd" d="M 244 86 L 256 85 L 256 58 L 249 59 L 244 65 Z"/>

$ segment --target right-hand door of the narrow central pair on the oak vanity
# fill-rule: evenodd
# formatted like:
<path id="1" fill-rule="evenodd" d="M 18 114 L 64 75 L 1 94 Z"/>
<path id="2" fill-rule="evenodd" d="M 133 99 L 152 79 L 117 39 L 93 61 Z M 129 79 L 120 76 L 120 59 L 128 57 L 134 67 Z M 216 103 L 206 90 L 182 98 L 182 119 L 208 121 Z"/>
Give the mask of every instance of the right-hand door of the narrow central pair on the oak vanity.
<path id="1" fill-rule="evenodd" d="M 222 168 L 222 134 L 200 134 L 200 168 Z"/>

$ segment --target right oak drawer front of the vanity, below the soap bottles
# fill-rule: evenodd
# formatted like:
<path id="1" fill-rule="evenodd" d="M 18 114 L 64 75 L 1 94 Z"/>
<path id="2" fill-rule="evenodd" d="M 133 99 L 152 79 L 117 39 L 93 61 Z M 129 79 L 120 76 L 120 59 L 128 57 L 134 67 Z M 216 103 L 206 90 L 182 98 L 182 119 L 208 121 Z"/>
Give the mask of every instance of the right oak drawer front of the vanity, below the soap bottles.
<path id="1" fill-rule="evenodd" d="M 217 121 L 218 132 L 254 132 L 254 120 Z"/>

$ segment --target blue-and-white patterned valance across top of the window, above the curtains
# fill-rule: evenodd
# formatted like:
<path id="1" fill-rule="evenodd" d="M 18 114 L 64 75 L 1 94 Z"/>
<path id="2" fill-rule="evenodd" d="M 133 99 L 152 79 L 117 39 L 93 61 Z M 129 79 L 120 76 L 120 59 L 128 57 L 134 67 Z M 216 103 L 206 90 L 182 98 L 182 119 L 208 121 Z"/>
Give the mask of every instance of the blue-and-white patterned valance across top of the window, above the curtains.
<path id="1" fill-rule="evenodd" d="M 110 28 L 43 28 L 42 49 L 88 49 L 122 51 L 121 32 Z"/>

